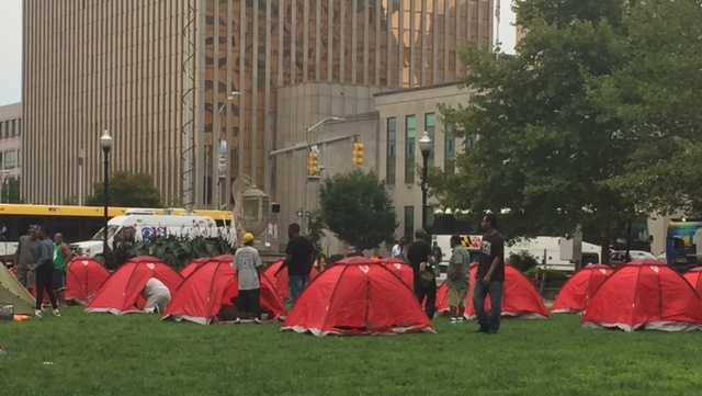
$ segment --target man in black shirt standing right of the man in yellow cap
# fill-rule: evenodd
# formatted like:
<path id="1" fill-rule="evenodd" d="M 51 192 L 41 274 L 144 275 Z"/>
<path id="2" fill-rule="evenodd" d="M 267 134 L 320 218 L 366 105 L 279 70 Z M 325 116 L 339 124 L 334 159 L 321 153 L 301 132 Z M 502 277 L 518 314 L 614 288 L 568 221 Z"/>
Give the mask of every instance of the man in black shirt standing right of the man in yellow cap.
<path id="1" fill-rule="evenodd" d="M 315 249 L 307 238 L 299 235 L 299 224 L 291 224 L 287 227 L 287 236 L 290 240 L 285 248 L 286 257 L 283 265 L 287 265 L 290 299 L 292 306 L 295 306 L 297 298 L 307 286 Z"/>

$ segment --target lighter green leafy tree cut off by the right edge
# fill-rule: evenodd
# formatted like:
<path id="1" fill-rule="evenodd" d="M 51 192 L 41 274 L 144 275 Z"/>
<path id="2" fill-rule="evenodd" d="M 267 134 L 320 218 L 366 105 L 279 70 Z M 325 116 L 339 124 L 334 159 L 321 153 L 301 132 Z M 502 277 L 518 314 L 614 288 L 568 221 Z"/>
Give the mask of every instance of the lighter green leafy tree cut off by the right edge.
<path id="1" fill-rule="evenodd" d="M 590 83 L 602 120 L 619 120 L 635 150 L 611 188 L 642 212 L 702 214 L 702 2 L 637 2 L 619 37 L 625 63 Z"/>

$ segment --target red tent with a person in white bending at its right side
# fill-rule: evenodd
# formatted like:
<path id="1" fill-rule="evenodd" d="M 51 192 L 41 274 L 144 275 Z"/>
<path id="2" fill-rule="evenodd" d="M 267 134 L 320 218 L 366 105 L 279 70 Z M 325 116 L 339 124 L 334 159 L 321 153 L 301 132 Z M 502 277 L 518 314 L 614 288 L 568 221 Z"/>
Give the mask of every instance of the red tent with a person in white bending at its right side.
<path id="1" fill-rule="evenodd" d="M 102 284 L 86 312 L 114 315 L 141 312 L 146 303 L 141 297 L 141 291 L 151 278 L 163 282 L 171 296 L 183 281 L 178 272 L 159 259 L 137 257 L 122 265 Z"/>

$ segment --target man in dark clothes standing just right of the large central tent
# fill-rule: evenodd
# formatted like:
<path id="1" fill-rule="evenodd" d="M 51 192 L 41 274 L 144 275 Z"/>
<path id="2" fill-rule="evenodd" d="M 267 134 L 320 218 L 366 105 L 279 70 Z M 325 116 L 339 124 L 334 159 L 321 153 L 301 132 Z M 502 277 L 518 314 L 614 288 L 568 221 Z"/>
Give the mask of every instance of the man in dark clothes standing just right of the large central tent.
<path id="1" fill-rule="evenodd" d="M 431 246 L 423 229 L 415 233 L 415 241 L 407 248 L 407 260 L 412 265 L 415 274 L 415 295 L 421 305 L 424 303 L 424 312 L 430 319 L 434 317 L 437 302 L 437 278 L 434 262 L 431 256 Z M 424 302 L 426 298 L 426 302 Z"/>

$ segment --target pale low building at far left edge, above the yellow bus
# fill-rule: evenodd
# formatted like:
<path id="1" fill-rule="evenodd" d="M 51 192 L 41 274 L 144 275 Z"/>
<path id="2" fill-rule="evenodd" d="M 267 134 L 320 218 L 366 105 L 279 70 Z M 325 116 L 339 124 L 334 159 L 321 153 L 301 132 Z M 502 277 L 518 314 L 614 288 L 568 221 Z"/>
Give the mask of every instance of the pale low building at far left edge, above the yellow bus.
<path id="1" fill-rule="evenodd" d="M 21 158 L 22 104 L 0 106 L 0 203 L 20 197 Z"/>

